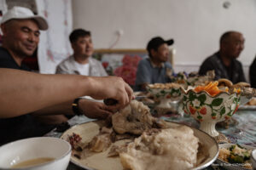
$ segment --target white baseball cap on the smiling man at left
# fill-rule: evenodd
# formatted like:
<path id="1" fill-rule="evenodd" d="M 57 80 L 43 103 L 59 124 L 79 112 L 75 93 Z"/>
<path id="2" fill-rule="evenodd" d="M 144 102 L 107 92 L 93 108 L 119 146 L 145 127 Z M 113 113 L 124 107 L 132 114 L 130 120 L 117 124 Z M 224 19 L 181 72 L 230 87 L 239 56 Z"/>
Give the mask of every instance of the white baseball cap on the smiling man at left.
<path id="1" fill-rule="evenodd" d="M 39 30 L 47 30 L 48 24 L 43 16 L 39 16 L 32 13 L 32 10 L 25 7 L 13 7 L 7 11 L 7 13 L 3 14 L 3 18 L 1 20 L 1 24 L 9 21 L 9 20 L 24 20 L 24 19 L 33 19 L 38 22 Z"/>

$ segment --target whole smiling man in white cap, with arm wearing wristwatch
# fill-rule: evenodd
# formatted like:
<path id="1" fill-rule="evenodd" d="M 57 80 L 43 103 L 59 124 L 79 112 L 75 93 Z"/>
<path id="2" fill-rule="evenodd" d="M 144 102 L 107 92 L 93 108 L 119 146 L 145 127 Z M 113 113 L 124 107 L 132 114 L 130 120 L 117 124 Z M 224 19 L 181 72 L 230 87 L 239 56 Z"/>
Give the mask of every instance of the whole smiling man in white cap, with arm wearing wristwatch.
<path id="1" fill-rule="evenodd" d="M 29 70 L 26 68 L 26 65 L 23 65 L 21 62 L 26 56 L 31 56 L 38 47 L 39 30 L 47 30 L 47 28 L 47 21 L 41 16 L 34 15 L 30 9 L 23 7 L 9 9 L 3 15 L 3 20 L 1 21 L 3 46 L 0 47 L 0 67 L 28 72 Z M 49 84 L 53 83 L 51 81 L 49 82 Z M 18 89 L 19 91 L 24 90 L 24 88 L 20 88 L 19 84 L 17 84 L 17 87 L 19 88 L 14 89 Z M 34 95 L 38 96 L 36 93 Z M 20 103 L 21 100 L 23 99 L 20 98 Z M 86 108 L 86 112 L 84 112 L 85 116 L 103 118 L 112 114 L 112 111 L 108 110 L 108 107 L 102 103 L 85 99 L 76 100 L 76 102 L 79 102 L 82 111 Z M 9 103 L 12 103 L 12 99 L 9 100 Z M 67 121 L 67 118 L 62 114 L 73 114 L 72 104 L 73 99 L 49 108 L 41 108 L 41 110 L 33 111 L 26 116 L 0 119 L 0 144 L 15 139 L 44 135 L 44 133 L 49 132 L 49 130 L 55 127 L 55 125 L 49 125 L 49 121 L 55 121 L 55 123 Z M 32 104 L 27 103 L 26 105 Z M 12 107 L 12 105 L 9 104 L 9 107 Z M 38 119 L 35 119 L 35 117 L 43 117 L 41 115 L 46 114 L 50 115 L 51 119 L 44 119 L 44 123 L 41 120 L 38 121 Z M 47 120 L 48 122 L 45 122 Z"/>

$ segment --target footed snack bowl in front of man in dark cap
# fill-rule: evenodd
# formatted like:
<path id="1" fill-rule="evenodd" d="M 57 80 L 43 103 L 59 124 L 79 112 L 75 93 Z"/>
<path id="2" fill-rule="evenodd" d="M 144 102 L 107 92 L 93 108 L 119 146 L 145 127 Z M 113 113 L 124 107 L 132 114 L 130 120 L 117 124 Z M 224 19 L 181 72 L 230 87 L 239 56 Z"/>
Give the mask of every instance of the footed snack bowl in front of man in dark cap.
<path id="1" fill-rule="evenodd" d="M 157 107 L 170 108 L 170 102 L 179 102 L 181 99 L 180 85 L 177 83 L 154 83 L 148 84 L 148 92 L 154 99 L 160 100 Z"/>

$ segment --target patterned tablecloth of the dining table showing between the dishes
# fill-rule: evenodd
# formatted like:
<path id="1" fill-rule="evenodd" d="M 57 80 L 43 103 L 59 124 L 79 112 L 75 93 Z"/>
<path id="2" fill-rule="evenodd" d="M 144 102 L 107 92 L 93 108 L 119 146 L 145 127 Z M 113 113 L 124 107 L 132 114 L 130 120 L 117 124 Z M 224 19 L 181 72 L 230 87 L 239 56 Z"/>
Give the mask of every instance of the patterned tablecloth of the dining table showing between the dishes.
<path id="1" fill-rule="evenodd" d="M 167 122 L 178 122 L 189 127 L 200 127 L 200 122 L 197 122 L 192 116 L 184 114 L 182 112 L 167 112 L 159 116 L 160 119 L 164 119 Z M 96 119 L 90 119 L 86 116 L 73 116 L 68 121 L 70 127 L 84 123 L 92 122 Z M 224 127 L 216 125 L 216 129 L 219 133 L 223 133 L 232 144 L 247 144 L 256 147 L 256 110 L 255 108 L 247 107 L 246 109 L 238 109 L 236 114 L 231 117 L 228 126 Z M 45 136 L 60 138 L 61 134 L 65 132 L 65 129 L 57 130 L 53 129 Z M 79 167 L 70 161 L 67 170 L 82 170 L 84 168 Z M 223 170 L 224 167 L 219 165 L 216 161 L 211 166 L 205 168 L 207 170 Z"/>

